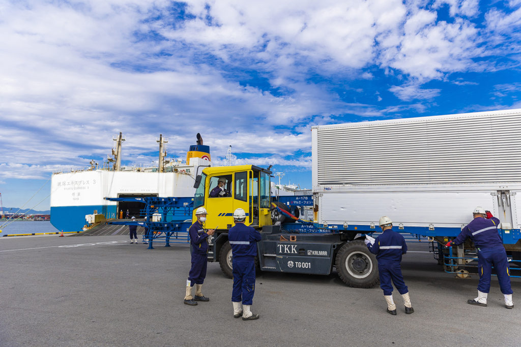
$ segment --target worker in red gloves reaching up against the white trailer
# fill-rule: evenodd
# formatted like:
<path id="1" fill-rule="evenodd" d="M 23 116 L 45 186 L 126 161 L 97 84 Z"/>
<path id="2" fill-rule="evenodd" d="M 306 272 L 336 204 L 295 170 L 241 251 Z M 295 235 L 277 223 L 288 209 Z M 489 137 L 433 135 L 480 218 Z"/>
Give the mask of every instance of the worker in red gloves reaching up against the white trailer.
<path id="1" fill-rule="evenodd" d="M 505 307 L 513 309 L 512 288 L 510 286 L 510 272 L 505 247 L 498 232 L 499 219 L 492 216 L 490 211 L 476 207 L 473 211 L 474 219 L 463 228 L 460 235 L 446 243 L 446 247 L 461 245 L 470 238 L 478 250 L 478 297 L 469 299 L 471 305 L 487 306 L 487 296 L 490 291 L 490 276 L 492 265 L 498 274 L 499 287 L 505 299 Z"/>

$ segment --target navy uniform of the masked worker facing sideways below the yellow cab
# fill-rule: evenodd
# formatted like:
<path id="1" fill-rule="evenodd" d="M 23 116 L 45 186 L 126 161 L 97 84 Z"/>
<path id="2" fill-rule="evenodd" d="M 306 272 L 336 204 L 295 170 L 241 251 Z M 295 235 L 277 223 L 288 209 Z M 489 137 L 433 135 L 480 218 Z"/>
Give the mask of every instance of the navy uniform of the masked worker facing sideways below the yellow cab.
<path id="1" fill-rule="evenodd" d="M 188 232 L 190 233 L 190 253 L 192 256 L 192 267 L 188 274 L 188 280 L 190 287 L 193 287 L 194 284 L 202 285 L 206 277 L 208 234 L 199 221 L 192 224 Z"/>

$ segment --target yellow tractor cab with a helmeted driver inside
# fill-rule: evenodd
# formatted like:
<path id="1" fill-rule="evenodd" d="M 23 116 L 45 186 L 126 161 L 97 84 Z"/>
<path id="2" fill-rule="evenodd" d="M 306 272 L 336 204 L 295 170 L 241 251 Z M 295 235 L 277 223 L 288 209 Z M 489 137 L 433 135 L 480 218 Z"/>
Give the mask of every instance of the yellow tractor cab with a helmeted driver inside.
<path id="1" fill-rule="evenodd" d="M 231 228 L 233 211 L 238 208 L 246 212 L 244 224 L 254 228 L 271 225 L 270 174 L 255 165 L 205 168 L 195 179 L 194 211 L 206 208 L 206 229 Z M 193 214 L 192 223 L 196 220 Z"/>

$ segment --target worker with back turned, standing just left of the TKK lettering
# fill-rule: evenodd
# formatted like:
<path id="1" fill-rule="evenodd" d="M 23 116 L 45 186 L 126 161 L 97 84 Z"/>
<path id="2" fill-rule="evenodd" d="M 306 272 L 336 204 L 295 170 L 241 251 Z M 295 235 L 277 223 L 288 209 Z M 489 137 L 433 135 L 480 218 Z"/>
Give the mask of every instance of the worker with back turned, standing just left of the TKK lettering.
<path id="1" fill-rule="evenodd" d="M 255 256 L 261 234 L 251 226 L 244 225 L 246 213 L 243 209 L 233 212 L 233 220 L 235 226 L 228 232 L 233 265 L 233 317 L 242 316 L 242 320 L 258 319 L 259 315 L 253 314 L 250 306 L 255 293 Z"/>

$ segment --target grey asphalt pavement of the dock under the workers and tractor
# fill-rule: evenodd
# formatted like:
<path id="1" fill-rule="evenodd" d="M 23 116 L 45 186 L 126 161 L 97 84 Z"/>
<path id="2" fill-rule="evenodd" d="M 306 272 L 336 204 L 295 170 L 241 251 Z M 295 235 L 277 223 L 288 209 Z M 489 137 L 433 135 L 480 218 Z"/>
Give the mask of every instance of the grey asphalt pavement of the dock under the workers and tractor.
<path id="1" fill-rule="evenodd" d="M 468 305 L 477 276 L 446 274 L 427 243 L 402 262 L 414 314 L 386 313 L 382 290 L 329 276 L 262 273 L 252 312 L 233 318 L 232 280 L 209 263 L 203 294 L 183 304 L 187 246 L 130 244 L 128 236 L 0 238 L 0 346 L 519 345 L 521 280 L 504 307 L 497 278 L 488 307 Z"/>

